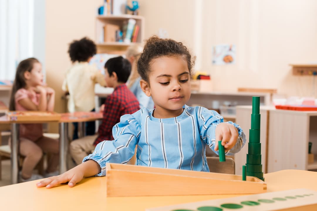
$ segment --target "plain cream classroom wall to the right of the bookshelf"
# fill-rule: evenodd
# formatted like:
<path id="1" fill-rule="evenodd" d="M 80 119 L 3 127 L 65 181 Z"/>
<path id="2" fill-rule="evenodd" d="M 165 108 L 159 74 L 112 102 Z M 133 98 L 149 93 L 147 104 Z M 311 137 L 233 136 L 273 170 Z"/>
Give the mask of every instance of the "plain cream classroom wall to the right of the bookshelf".
<path id="1" fill-rule="evenodd" d="M 317 62 L 316 1 L 139 2 L 140 13 L 146 19 L 146 35 L 157 33 L 162 27 L 171 38 L 185 40 L 197 55 L 196 69 L 211 75 L 212 90 L 277 88 L 287 96 L 317 98 L 313 76 L 293 76 L 288 65 Z M 199 25 L 201 31 L 197 32 Z M 211 64 L 211 48 L 218 44 L 236 45 L 235 64 Z"/>

